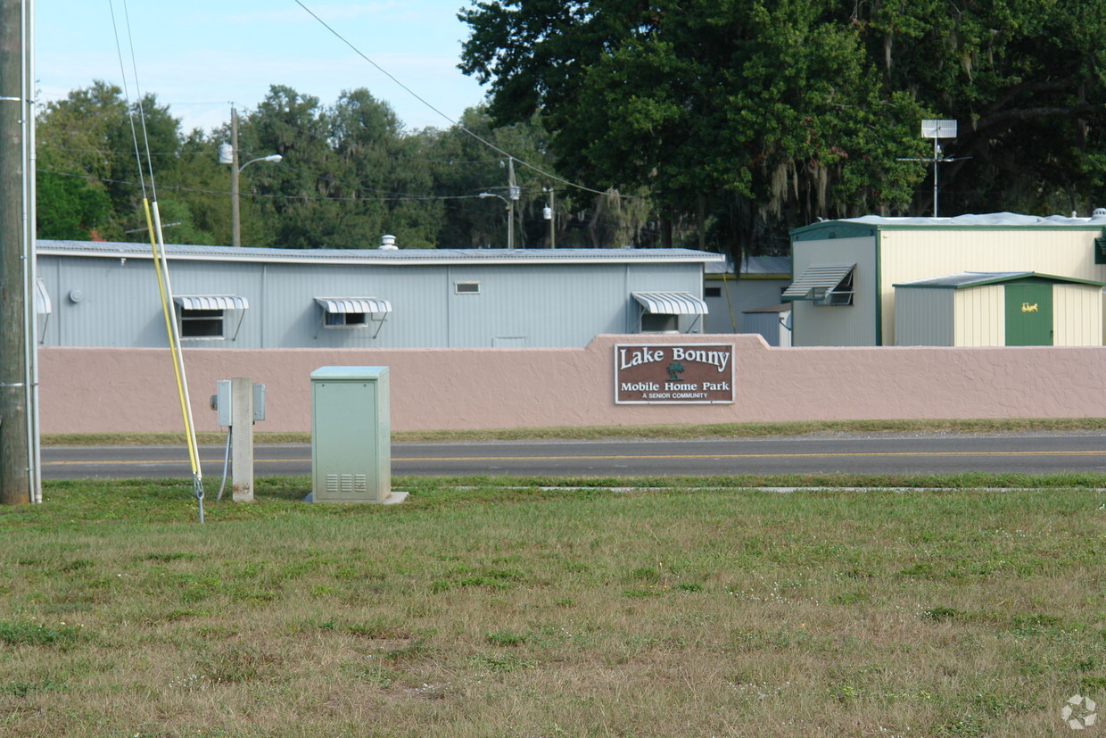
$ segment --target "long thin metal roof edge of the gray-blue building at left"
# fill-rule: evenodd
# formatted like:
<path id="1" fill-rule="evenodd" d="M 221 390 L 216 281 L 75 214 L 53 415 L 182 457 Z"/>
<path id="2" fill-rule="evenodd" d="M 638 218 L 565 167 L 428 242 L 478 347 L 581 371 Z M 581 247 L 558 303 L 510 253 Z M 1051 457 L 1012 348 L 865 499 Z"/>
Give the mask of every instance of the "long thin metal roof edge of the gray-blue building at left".
<path id="1" fill-rule="evenodd" d="M 122 241 L 38 241 L 38 252 L 49 256 L 152 259 L 148 243 Z M 260 249 L 252 247 L 187 246 L 166 243 L 171 260 L 261 261 L 269 263 L 336 263 L 406 266 L 418 263 L 626 263 L 721 262 L 721 253 L 691 249 Z"/>

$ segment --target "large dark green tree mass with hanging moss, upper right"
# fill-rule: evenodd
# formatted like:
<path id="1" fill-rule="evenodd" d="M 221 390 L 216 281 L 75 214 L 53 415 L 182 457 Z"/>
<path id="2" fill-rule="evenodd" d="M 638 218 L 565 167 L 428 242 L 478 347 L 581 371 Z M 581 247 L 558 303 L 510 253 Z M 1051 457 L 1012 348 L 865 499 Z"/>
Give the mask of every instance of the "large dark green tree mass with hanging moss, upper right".
<path id="1" fill-rule="evenodd" d="M 927 156 L 924 117 L 969 124 L 956 150 L 982 160 L 942 175 L 959 187 L 974 168 L 975 201 L 1102 181 L 1104 8 L 479 0 L 461 69 L 489 84 L 494 124 L 540 111 L 573 177 L 647 187 L 719 250 L 782 252 L 817 217 L 925 207 L 925 166 L 897 160 Z"/>

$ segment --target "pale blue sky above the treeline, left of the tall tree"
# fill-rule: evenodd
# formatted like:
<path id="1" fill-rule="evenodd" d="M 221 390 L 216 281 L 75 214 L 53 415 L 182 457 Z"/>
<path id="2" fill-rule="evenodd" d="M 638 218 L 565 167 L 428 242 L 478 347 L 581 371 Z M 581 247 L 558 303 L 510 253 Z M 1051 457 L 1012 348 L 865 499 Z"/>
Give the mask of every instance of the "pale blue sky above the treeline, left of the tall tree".
<path id="1" fill-rule="evenodd" d="M 457 69 L 468 38 L 457 12 L 469 0 L 302 2 L 449 118 L 458 119 L 483 100 L 483 89 Z M 408 129 L 451 125 L 295 0 L 34 0 L 34 22 L 42 104 L 94 80 L 124 86 L 117 28 L 131 98 L 137 97 L 136 89 L 156 94 L 181 118 L 185 132 L 227 123 L 232 103 L 240 113 L 255 108 L 273 84 L 323 105 L 345 90 L 366 87 L 392 105 Z"/>

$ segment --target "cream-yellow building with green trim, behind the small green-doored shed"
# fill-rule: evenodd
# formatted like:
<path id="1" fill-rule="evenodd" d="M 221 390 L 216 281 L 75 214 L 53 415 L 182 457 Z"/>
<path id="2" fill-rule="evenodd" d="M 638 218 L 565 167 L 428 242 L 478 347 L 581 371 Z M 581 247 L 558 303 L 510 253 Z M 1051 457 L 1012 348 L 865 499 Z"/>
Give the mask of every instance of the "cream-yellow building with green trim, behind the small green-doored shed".
<path id="1" fill-rule="evenodd" d="M 825 220 L 793 230 L 791 248 L 794 281 L 783 299 L 793 303 L 793 345 L 891 346 L 898 343 L 895 284 L 969 271 L 1036 272 L 1106 282 L 1106 210 L 1096 210 L 1091 218 L 999 212 Z M 1074 336 L 1097 326 L 1093 343 L 1102 344 L 1100 290 L 1094 299 L 1088 297 L 1094 290 L 1088 293 L 1086 287 L 1060 289 L 1055 304 L 1061 310 L 1055 314 L 1064 325 L 1057 328 L 1056 341 L 1082 341 Z M 987 290 L 966 294 L 971 297 L 958 299 L 997 299 L 988 298 Z M 1073 300 L 1078 310 L 1064 308 Z M 981 311 L 975 314 L 984 314 Z M 1095 314 L 1083 314 L 1086 311 Z M 1073 328 L 1071 321 L 1077 324 Z M 963 335 L 968 340 L 968 333 Z"/>

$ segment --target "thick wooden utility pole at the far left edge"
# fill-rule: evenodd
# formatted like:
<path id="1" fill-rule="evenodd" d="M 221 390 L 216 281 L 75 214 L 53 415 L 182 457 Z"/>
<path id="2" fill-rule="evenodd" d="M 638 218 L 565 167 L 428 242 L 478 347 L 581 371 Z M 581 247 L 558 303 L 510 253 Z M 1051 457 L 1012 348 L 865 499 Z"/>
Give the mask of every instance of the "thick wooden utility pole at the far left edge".
<path id="1" fill-rule="evenodd" d="M 30 0 L 25 0 L 29 2 Z M 24 0 L 0 0 L 0 503 L 32 501 L 28 356 L 28 104 Z"/>

